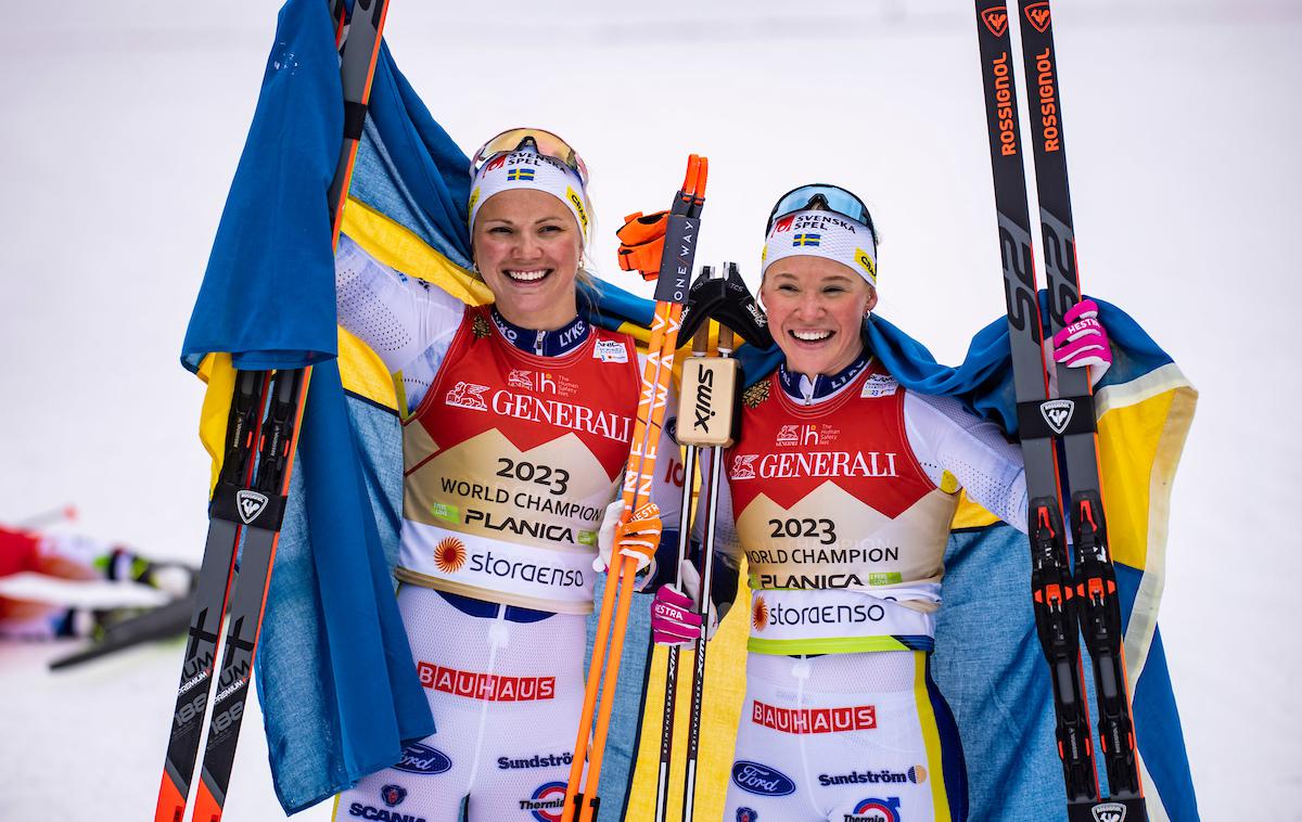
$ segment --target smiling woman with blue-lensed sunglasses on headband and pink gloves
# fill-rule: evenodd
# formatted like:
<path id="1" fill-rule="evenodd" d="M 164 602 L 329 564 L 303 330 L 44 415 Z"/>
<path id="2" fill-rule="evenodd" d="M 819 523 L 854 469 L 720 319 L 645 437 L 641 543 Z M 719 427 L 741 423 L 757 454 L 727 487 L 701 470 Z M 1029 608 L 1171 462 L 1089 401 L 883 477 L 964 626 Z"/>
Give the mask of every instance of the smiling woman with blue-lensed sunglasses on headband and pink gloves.
<path id="1" fill-rule="evenodd" d="M 736 571 L 745 554 L 753 589 L 733 609 L 750 640 L 725 815 L 961 822 L 958 727 L 931 676 L 944 555 L 960 490 L 1025 529 L 1021 453 L 875 356 L 876 232 L 855 195 L 796 189 L 766 234 L 760 297 L 784 359 L 745 394 L 719 494 L 719 561 Z"/>

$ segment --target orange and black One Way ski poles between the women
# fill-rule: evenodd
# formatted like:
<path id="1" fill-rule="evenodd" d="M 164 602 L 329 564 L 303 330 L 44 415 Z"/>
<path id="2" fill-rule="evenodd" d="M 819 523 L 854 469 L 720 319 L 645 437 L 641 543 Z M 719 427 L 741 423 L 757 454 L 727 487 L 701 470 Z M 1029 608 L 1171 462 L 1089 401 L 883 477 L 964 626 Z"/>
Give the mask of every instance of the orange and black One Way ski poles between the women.
<path id="1" fill-rule="evenodd" d="M 633 511 L 651 499 L 656 450 L 664 427 L 682 307 L 687 298 L 687 285 L 697 258 L 697 238 L 700 229 L 700 211 L 706 200 L 707 177 L 708 160 L 691 155 L 687 160 L 687 173 L 682 189 L 674 196 L 673 208 L 669 211 L 664 255 L 660 260 L 660 273 L 655 289 L 656 307 L 655 317 L 651 321 L 651 341 L 642 373 L 638 419 L 633 428 L 629 464 L 624 472 L 624 520 L 628 520 Z M 592 822 L 600 806 L 598 788 L 602 779 L 602 761 L 605 754 L 605 737 L 611 727 L 611 711 L 615 706 L 615 687 L 620 672 L 629 609 L 633 605 L 635 575 L 637 563 L 615 551 L 605 576 L 605 593 L 602 597 L 596 641 L 587 670 L 583 709 L 574 741 L 574 762 L 570 765 L 569 782 L 565 788 L 561 822 L 574 822 L 575 819 Z M 591 745 L 589 745 L 590 734 Z M 585 750 L 587 750 L 587 757 L 583 756 Z M 586 775 L 585 758 L 587 762 Z"/>

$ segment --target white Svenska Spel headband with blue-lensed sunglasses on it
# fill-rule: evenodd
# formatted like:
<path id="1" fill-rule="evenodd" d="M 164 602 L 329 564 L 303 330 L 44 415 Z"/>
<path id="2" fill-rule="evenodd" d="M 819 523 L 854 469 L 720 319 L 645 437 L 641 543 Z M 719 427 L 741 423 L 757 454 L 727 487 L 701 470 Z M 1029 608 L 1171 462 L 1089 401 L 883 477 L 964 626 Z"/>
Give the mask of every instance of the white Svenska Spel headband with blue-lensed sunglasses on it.
<path id="1" fill-rule="evenodd" d="M 801 186 L 777 200 L 768 217 L 760 274 L 792 256 L 840 263 L 878 287 L 872 217 L 863 200 L 838 186 Z"/>

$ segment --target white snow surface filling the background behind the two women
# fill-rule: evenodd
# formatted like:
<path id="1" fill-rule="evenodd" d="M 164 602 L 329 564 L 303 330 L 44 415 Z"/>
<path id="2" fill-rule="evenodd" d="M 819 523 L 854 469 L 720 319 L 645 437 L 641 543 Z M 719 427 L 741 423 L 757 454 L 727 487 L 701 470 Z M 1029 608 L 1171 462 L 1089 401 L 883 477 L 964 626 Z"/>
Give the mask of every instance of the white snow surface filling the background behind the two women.
<path id="1" fill-rule="evenodd" d="M 773 199 L 835 181 L 881 228 L 884 316 L 956 362 L 1001 313 L 969 4 L 447 5 L 395 0 L 398 65 L 466 151 L 522 124 L 579 146 L 607 271 L 621 217 L 664 207 L 699 151 L 703 261 L 754 276 Z M 1302 819 L 1288 593 L 1302 446 L 1288 433 L 1299 391 L 1281 380 L 1302 294 L 1286 241 L 1302 224 L 1302 9 L 1055 7 L 1086 290 L 1129 310 L 1202 390 L 1161 626 L 1203 817 Z M 198 561 L 202 386 L 177 352 L 276 8 L 5 4 L 0 522 L 74 502 L 87 533 Z M 66 650 L 0 648 L 0 819 L 147 818 L 180 645 L 46 672 Z M 281 815 L 259 724 L 230 819 Z"/>

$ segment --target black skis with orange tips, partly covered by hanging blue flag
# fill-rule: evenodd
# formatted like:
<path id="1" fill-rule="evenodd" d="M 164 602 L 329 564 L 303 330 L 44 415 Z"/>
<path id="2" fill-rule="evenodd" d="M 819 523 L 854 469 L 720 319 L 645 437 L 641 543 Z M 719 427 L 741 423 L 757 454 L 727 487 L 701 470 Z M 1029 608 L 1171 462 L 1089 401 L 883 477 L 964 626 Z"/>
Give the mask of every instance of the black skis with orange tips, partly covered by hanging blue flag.
<path id="1" fill-rule="evenodd" d="M 387 0 L 355 0 L 346 27 L 348 39 L 342 43 L 340 72 L 345 139 L 328 194 L 335 243 L 339 242 L 353 161 L 366 120 L 387 8 Z M 336 44 L 340 44 L 345 31 L 342 3 L 336 0 L 331 10 L 336 14 Z M 221 646 L 217 692 L 212 700 L 193 817 L 195 822 L 217 822 L 221 818 L 310 375 L 311 368 L 275 373 L 236 372 L 225 457 L 210 506 L 208 537 L 195 588 L 155 822 L 181 822 L 185 817 L 225 615 L 227 637 Z M 243 553 L 237 574 L 241 537 Z"/>

